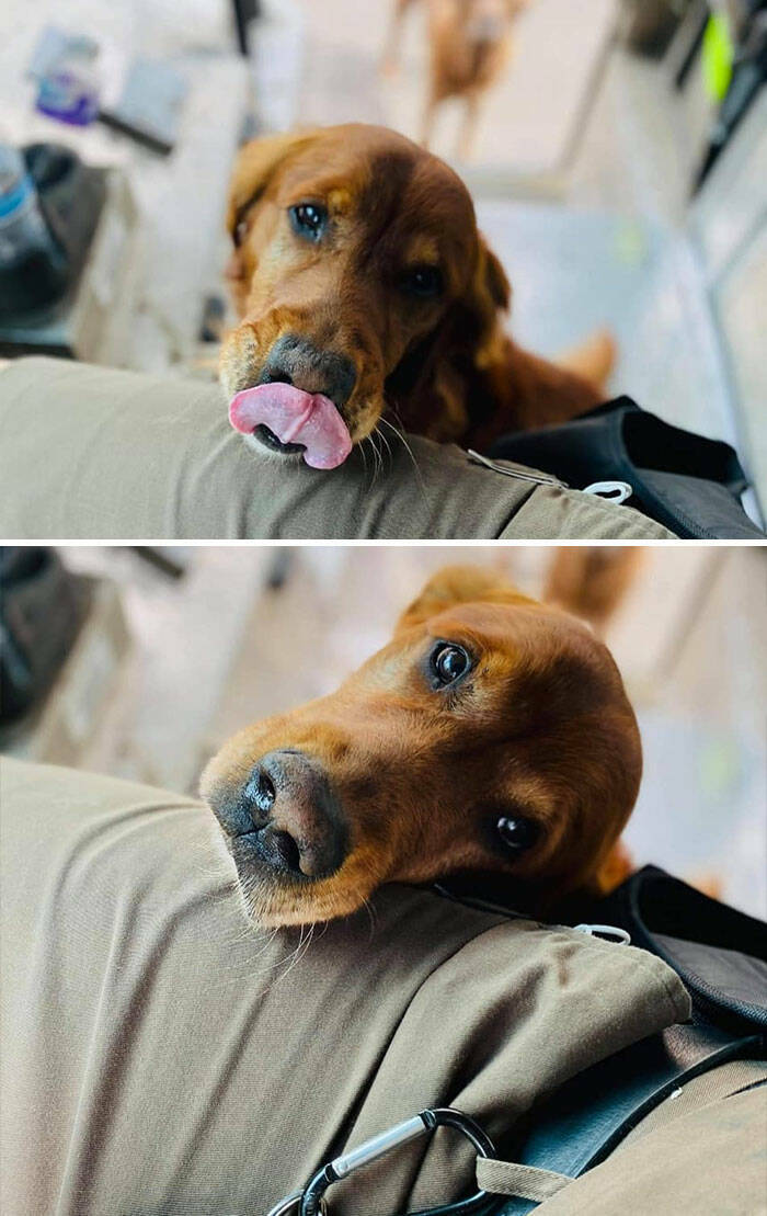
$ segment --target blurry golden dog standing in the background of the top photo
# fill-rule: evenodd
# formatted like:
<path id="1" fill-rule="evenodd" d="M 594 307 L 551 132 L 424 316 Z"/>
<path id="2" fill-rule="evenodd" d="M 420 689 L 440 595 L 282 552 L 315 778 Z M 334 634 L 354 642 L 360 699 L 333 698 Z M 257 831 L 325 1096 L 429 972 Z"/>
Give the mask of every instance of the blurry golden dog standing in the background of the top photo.
<path id="1" fill-rule="evenodd" d="M 384 71 L 394 71 L 402 21 L 417 0 L 395 0 Z M 468 161 L 474 148 L 481 101 L 507 67 L 517 17 L 530 0 L 427 0 L 429 91 L 422 142 L 429 147 L 439 107 L 449 97 L 464 102 L 457 154 Z"/>

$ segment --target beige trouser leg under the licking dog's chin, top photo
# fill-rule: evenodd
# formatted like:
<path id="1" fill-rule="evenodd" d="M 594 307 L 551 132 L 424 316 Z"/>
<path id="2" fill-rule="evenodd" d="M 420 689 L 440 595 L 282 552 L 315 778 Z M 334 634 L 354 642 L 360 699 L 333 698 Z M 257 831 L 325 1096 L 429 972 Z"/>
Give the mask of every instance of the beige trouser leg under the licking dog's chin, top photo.
<path id="1" fill-rule="evenodd" d="M 21 359 L 0 371 L 0 536 L 671 539 L 627 507 L 408 441 L 412 456 L 390 435 L 377 475 L 359 449 L 333 472 L 286 467 L 232 430 L 215 384 Z"/>

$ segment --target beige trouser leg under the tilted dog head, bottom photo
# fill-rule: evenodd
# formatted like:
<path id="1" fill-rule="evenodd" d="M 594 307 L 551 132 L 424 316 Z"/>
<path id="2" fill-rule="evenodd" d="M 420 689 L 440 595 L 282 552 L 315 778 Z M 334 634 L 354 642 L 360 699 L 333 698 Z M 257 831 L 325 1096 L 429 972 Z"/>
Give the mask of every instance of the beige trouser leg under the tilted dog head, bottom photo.
<path id="1" fill-rule="evenodd" d="M 312 939 L 256 933 L 192 799 L 6 760 L 0 807 L 4 1216 L 263 1216 L 425 1105 L 502 1144 L 689 1012 L 639 950 L 405 886 Z M 393 1216 L 473 1176 L 440 1131 L 332 1211 Z"/>

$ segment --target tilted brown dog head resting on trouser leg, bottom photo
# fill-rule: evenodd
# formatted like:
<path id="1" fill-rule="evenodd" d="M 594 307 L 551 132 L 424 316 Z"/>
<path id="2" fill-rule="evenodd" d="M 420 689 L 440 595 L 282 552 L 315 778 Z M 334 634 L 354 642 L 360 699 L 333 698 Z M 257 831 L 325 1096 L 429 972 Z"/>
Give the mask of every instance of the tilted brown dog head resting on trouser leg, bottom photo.
<path id="1" fill-rule="evenodd" d="M 591 631 L 455 567 L 337 692 L 226 743 L 202 793 L 263 924 L 475 872 L 540 912 L 599 889 L 641 767 L 633 711 Z"/>

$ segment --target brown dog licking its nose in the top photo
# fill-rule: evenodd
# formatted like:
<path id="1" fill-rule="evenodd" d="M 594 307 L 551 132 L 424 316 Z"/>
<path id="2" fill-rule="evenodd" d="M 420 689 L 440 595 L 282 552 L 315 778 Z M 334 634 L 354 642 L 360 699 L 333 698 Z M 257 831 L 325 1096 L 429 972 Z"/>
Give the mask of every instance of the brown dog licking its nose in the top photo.
<path id="1" fill-rule="evenodd" d="M 573 358 L 581 375 L 521 350 L 466 186 L 394 131 L 351 124 L 248 143 L 229 229 L 242 321 L 221 382 L 233 424 L 261 450 L 311 463 L 316 443 L 317 467 L 331 468 L 390 418 L 481 450 L 600 400 L 588 368 L 607 376 L 609 342 Z"/>

